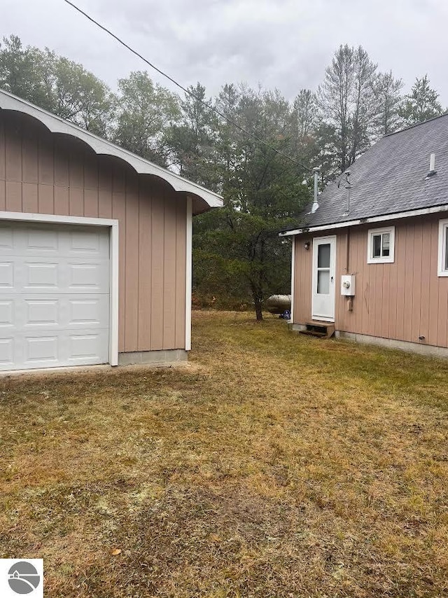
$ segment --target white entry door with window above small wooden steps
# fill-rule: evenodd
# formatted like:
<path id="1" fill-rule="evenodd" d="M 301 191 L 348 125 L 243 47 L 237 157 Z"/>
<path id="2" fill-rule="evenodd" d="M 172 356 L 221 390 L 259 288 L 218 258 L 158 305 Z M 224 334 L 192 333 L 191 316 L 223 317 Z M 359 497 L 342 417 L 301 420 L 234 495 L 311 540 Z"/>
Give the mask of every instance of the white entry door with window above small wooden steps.
<path id="1" fill-rule="evenodd" d="M 311 300 L 314 320 L 335 321 L 335 266 L 336 237 L 314 239 Z"/>

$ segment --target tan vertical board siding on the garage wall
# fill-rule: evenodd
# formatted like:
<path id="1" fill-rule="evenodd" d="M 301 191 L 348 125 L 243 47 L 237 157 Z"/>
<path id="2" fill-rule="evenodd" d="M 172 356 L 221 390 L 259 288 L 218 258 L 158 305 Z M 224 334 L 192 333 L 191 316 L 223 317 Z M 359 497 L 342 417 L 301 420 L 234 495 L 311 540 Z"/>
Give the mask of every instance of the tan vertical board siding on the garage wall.
<path id="1" fill-rule="evenodd" d="M 118 351 L 185 348 L 186 195 L 0 112 L 0 211 L 118 219 Z"/>

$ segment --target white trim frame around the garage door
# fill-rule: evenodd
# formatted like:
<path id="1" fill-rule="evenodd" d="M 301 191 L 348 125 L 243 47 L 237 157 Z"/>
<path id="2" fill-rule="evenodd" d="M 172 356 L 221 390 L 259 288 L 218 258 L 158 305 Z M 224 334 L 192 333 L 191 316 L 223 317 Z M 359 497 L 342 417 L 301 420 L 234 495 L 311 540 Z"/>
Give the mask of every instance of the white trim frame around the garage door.
<path id="1" fill-rule="evenodd" d="M 110 253 L 110 306 L 109 306 L 109 363 L 118 366 L 118 220 L 112 218 L 86 218 L 85 216 L 59 216 L 57 214 L 25 214 L 0 211 L 0 220 L 37 222 L 44 224 L 80 224 L 83 226 L 109 226 Z M 82 366 L 80 366 L 82 367 Z"/>

